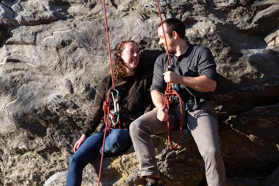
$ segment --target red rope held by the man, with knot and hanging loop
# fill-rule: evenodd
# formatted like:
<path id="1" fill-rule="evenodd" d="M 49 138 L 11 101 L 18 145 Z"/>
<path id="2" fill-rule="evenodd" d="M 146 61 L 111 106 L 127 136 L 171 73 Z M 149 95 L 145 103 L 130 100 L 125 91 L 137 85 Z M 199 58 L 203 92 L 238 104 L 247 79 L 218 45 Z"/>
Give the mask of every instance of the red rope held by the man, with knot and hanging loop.
<path id="1" fill-rule="evenodd" d="M 162 25 L 162 29 L 163 29 L 163 34 L 164 34 L 164 39 L 165 39 L 165 42 L 166 42 L 166 35 L 165 35 L 165 30 L 164 30 L 164 26 L 163 26 L 163 21 L 162 21 L 162 17 L 161 17 L 161 11 L 160 11 L 160 6 L 159 6 L 159 2 L 157 0 L 157 5 L 158 5 L 158 11 L 159 11 L 159 15 L 160 15 L 160 20 L 161 20 L 161 25 Z M 168 59 L 169 59 L 169 64 L 171 65 L 170 63 L 170 54 L 169 54 L 169 50 L 168 50 L 168 45 L 167 45 L 167 42 L 166 42 L 166 52 L 168 54 Z M 167 71 L 169 71 L 169 68 L 167 68 Z M 180 134 L 179 134 L 179 140 L 178 140 L 178 143 L 175 147 L 173 147 L 170 143 L 170 119 L 168 119 L 168 141 L 169 141 L 169 145 L 171 148 L 175 149 L 178 147 L 179 143 L 180 143 L 180 140 L 181 140 L 181 135 L 182 135 L 182 101 L 181 101 L 181 98 L 179 96 L 179 94 L 177 93 L 177 91 L 173 91 L 172 90 L 172 86 L 170 83 L 167 83 L 167 88 L 166 88 L 166 91 L 165 91 L 165 103 L 164 103 L 164 110 L 166 108 L 166 105 L 167 105 L 167 109 L 168 109 L 168 115 L 170 115 L 170 104 L 171 102 L 169 101 L 170 99 L 170 96 L 172 95 L 177 95 L 178 98 L 179 98 L 179 101 L 180 101 Z"/>

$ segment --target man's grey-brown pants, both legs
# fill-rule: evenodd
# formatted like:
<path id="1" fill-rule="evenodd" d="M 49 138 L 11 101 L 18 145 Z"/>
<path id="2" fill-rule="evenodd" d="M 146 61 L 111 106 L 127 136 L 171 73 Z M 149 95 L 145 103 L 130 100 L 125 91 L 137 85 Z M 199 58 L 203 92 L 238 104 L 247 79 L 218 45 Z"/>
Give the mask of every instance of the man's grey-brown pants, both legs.
<path id="1" fill-rule="evenodd" d="M 180 120 L 180 107 L 174 107 L 171 110 L 177 113 Z M 196 110 L 183 112 L 183 121 L 185 117 L 187 117 L 187 122 L 184 123 L 184 128 L 188 126 L 205 161 L 208 185 L 224 186 L 226 183 L 225 167 L 219 146 L 217 115 L 213 106 L 206 101 Z M 172 128 L 174 128 L 174 120 L 170 117 L 170 129 Z M 157 109 L 131 123 L 130 135 L 139 160 L 141 176 L 159 175 L 151 135 L 166 131 L 167 121 L 161 122 L 157 119 Z"/>

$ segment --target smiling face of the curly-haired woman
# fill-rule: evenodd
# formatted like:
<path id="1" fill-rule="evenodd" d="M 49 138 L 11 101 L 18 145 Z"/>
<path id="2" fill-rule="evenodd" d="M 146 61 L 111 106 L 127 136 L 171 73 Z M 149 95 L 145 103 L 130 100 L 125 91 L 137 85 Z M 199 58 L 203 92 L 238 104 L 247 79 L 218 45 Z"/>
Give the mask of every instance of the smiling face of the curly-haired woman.
<path id="1" fill-rule="evenodd" d="M 133 42 L 125 43 L 124 50 L 120 54 L 120 57 L 124 61 L 124 67 L 127 72 L 133 72 L 139 63 L 138 46 Z"/>

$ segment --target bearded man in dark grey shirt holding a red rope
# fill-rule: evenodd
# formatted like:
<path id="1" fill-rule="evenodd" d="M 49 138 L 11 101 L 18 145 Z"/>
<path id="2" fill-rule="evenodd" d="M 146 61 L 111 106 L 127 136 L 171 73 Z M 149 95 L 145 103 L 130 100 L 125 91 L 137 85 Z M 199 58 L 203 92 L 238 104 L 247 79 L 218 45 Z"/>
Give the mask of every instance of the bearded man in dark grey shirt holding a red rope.
<path id="1" fill-rule="evenodd" d="M 206 179 L 209 186 L 223 186 L 226 182 L 224 163 L 219 150 L 217 116 L 210 100 L 210 92 L 216 88 L 217 72 L 214 58 L 209 49 L 193 45 L 184 40 L 185 26 L 182 21 L 170 18 L 158 26 L 159 45 L 170 53 L 170 61 L 175 64 L 175 72 L 168 71 L 167 54 L 160 55 L 154 65 L 153 84 L 150 87 L 156 107 L 130 125 L 140 166 L 141 176 L 147 176 L 147 186 L 164 186 L 159 176 L 155 150 L 151 135 L 167 131 L 168 110 L 163 108 L 166 83 L 177 83 L 182 99 L 184 126 L 188 126 L 199 152 L 205 161 Z M 180 119 L 179 99 L 174 97 L 170 109 L 170 127 L 175 127 L 175 119 Z M 198 116 L 198 117 L 197 117 Z M 177 123 L 177 125 L 180 124 Z"/>

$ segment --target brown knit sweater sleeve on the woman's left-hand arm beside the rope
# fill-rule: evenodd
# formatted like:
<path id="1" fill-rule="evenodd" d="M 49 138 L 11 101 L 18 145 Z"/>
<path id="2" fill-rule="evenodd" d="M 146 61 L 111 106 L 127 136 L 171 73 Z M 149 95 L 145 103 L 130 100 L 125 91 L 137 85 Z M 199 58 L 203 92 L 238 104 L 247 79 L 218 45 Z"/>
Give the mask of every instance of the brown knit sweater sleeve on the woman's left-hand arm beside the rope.
<path id="1" fill-rule="evenodd" d="M 95 129 L 99 126 L 102 117 L 104 116 L 103 102 L 106 99 L 106 88 L 109 83 L 109 79 L 107 77 L 108 76 L 105 76 L 100 82 L 100 85 L 96 91 L 93 106 L 91 107 L 90 112 L 86 118 L 85 125 L 83 126 L 82 134 L 85 134 L 87 137 L 89 137 L 95 131 Z"/>

